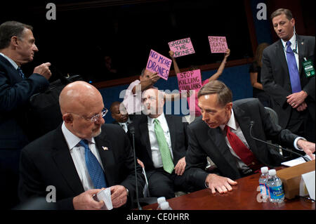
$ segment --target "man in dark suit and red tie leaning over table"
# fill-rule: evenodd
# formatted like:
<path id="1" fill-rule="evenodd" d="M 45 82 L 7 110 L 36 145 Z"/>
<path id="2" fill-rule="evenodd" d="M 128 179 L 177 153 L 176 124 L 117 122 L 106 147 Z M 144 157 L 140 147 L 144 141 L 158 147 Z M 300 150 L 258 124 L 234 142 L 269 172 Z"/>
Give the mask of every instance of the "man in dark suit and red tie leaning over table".
<path id="1" fill-rule="evenodd" d="M 275 149 L 250 136 L 249 125 L 254 121 L 252 135 L 262 140 L 276 140 L 280 145 L 303 149 L 315 159 L 315 143 L 296 136 L 274 124 L 258 99 L 237 100 L 221 81 L 210 81 L 198 94 L 202 117 L 188 127 L 189 147 L 187 181 L 199 188 L 209 187 L 213 193 L 228 192 L 230 185 L 242 176 L 258 171 L 261 166 L 279 166 L 282 156 Z M 219 175 L 206 173 L 206 157 L 218 168 Z"/>

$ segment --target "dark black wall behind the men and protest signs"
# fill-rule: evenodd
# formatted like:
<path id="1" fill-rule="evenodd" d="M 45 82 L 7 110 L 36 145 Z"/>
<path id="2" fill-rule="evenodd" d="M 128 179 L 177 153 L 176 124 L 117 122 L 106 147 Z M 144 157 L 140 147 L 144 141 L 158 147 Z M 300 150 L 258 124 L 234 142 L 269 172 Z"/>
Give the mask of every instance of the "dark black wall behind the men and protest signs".
<path id="1" fill-rule="evenodd" d="M 46 20 L 46 4 L 56 5 L 56 20 Z M 1 3 L 2 5 L 2 3 Z M 150 49 L 169 57 L 169 41 L 190 37 L 195 54 L 177 58 L 179 67 L 219 62 L 208 36 L 225 36 L 230 60 L 253 57 L 244 1 L 21 1 L 1 6 L 1 21 L 34 27 L 39 52 L 24 66 L 51 62 L 63 74 L 105 81 L 140 74 Z M 117 74 L 105 69 L 112 57 Z M 173 68 L 173 67 L 172 67 Z M 55 76 L 51 79 L 53 81 Z"/>

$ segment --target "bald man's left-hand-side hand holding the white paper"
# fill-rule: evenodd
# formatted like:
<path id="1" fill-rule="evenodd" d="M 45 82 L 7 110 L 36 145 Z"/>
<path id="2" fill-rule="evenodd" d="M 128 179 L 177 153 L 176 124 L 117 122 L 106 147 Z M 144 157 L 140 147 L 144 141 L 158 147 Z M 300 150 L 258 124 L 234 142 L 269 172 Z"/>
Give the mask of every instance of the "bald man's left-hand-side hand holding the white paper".
<path id="1" fill-rule="evenodd" d="M 93 195 L 98 194 L 102 189 L 91 189 L 86 192 L 77 195 L 72 199 L 72 204 L 74 205 L 75 210 L 98 210 L 101 209 L 104 205 L 104 202 L 97 202 L 93 199 Z"/>

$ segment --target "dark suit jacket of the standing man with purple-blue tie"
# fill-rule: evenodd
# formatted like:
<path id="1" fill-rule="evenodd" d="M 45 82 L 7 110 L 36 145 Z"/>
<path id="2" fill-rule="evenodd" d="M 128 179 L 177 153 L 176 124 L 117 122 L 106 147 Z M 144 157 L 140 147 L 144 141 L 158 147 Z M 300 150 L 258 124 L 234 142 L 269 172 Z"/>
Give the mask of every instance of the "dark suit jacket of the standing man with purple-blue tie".
<path id="1" fill-rule="evenodd" d="M 312 60 L 315 65 L 315 37 L 296 36 L 298 43 L 298 67 L 301 87 L 308 93 L 307 110 L 315 121 L 315 76 L 306 77 L 303 70 L 303 58 Z M 285 128 L 291 117 L 292 107 L 287 103 L 287 95 L 292 93 L 289 68 L 284 54 L 282 41 L 279 40 L 263 51 L 261 81 L 263 89 L 272 98 L 272 108 L 279 115 L 279 124 Z"/>

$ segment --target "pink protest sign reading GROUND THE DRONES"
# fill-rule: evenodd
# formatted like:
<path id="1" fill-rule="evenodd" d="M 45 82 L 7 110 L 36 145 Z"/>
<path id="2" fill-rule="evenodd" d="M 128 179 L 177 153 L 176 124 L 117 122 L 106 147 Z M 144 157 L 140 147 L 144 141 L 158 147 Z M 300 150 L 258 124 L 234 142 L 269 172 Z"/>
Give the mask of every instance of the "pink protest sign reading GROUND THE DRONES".
<path id="1" fill-rule="evenodd" d="M 190 37 L 179 39 L 178 41 L 171 41 L 168 45 L 170 50 L 174 52 L 174 58 L 195 53 Z"/>

